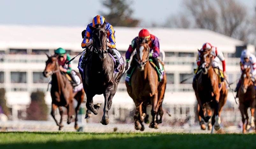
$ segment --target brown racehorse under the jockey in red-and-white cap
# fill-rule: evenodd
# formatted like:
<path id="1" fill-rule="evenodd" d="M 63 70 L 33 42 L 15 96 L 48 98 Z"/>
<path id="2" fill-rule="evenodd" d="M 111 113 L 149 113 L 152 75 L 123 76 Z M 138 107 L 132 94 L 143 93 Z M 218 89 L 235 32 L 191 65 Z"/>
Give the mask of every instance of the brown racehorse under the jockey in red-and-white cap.
<path id="1" fill-rule="evenodd" d="M 228 89 L 226 88 L 226 82 L 223 81 L 219 84 L 219 76 L 212 66 L 213 56 L 211 55 L 211 50 L 200 51 L 200 75 L 197 81 L 193 81 L 193 89 L 195 91 L 195 96 L 199 104 L 199 120 L 202 118 L 205 122 L 208 122 L 210 115 L 204 115 L 204 108 L 207 104 L 213 110 L 213 115 L 211 118 L 212 126 L 215 130 L 220 129 L 220 114 L 222 108 L 227 100 Z M 211 130 L 213 133 L 213 127 Z"/>

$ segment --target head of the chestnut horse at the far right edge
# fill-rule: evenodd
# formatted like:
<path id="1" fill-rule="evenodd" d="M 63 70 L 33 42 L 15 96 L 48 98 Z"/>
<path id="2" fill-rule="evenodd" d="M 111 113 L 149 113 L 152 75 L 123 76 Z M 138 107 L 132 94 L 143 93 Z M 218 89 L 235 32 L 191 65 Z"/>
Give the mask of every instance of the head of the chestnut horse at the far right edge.
<path id="1" fill-rule="evenodd" d="M 250 66 L 247 67 L 247 65 L 244 66 L 244 69 L 242 70 L 242 75 L 241 75 L 241 90 L 246 93 L 247 88 L 250 85 L 253 85 L 253 82 L 251 81 L 251 76 L 250 76 Z"/>

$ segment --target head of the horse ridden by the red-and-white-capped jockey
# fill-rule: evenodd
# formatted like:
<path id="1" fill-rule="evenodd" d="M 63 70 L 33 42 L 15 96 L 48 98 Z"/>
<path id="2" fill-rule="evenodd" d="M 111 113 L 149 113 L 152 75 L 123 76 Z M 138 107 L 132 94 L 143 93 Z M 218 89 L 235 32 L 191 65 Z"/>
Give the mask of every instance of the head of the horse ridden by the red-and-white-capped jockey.
<path id="1" fill-rule="evenodd" d="M 198 51 L 200 52 L 200 66 L 203 69 L 203 74 L 207 74 L 213 59 L 213 56 L 211 54 L 211 49 L 203 50 L 203 51 L 198 50 Z"/>

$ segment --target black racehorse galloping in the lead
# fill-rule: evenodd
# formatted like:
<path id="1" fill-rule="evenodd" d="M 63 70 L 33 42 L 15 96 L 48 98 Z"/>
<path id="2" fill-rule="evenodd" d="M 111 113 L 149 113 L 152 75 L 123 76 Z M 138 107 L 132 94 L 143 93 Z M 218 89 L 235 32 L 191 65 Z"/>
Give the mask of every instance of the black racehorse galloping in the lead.
<path id="1" fill-rule="evenodd" d="M 103 125 L 109 123 L 108 111 L 112 105 L 112 98 L 116 93 L 118 83 L 124 69 L 124 65 L 120 65 L 119 72 L 114 74 L 114 61 L 107 52 L 107 32 L 105 30 L 106 22 L 96 24 L 95 28 L 89 26 L 92 32 L 92 52 L 89 55 L 83 72 L 83 86 L 86 93 L 86 115 L 85 118 L 92 118 L 93 114 L 98 114 L 101 103 L 93 104 L 93 97 L 96 94 L 103 94 L 105 105 L 103 109 L 103 117 L 100 121 Z"/>

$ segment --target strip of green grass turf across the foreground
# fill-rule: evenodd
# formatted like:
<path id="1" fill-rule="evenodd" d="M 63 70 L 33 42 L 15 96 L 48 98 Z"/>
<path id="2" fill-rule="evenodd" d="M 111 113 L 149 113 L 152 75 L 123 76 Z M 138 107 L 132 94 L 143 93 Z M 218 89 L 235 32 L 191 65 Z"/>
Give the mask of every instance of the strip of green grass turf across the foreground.
<path id="1" fill-rule="evenodd" d="M 256 134 L 0 132 L 0 149 L 255 148 Z"/>

